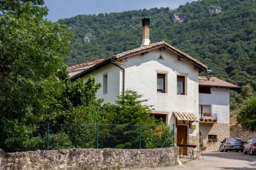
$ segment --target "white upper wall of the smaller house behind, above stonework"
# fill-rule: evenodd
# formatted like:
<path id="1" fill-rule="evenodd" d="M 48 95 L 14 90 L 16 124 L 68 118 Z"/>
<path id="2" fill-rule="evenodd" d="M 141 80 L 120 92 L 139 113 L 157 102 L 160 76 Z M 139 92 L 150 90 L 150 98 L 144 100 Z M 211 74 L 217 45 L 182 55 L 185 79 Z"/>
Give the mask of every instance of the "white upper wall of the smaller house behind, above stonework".
<path id="1" fill-rule="evenodd" d="M 229 124 L 229 89 L 211 88 L 211 94 L 199 93 L 199 105 L 210 105 L 211 113 L 217 113 L 218 123 Z"/>

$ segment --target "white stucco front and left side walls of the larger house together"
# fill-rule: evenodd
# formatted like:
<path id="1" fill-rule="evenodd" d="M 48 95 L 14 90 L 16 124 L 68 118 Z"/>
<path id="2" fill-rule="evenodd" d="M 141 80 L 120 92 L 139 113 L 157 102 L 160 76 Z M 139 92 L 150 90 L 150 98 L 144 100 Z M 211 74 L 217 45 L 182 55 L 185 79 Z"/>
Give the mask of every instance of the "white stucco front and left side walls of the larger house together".
<path id="1" fill-rule="evenodd" d="M 158 57 L 162 53 L 164 60 Z M 148 52 L 145 55 L 137 55 L 127 58 L 125 65 L 125 87 L 143 94 L 144 99 L 149 99 L 148 105 L 154 105 L 155 111 L 168 112 L 167 123 L 175 124 L 173 111 L 192 112 L 198 116 L 198 70 L 194 64 L 186 60 L 179 61 L 178 57 L 168 50 Z M 167 93 L 157 92 L 157 73 L 164 71 L 167 74 Z M 96 76 L 96 82 L 102 84 L 103 74 L 108 72 L 108 94 L 103 94 L 102 87 L 97 92 L 98 98 L 104 102 L 115 103 L 117 95 L 122 91 L 122 69 L 113 64 L 106 65 L 91 75 Z M 185 95 L 177 94 L 177 75 L 185 76 Z M 88 79 L 84 76 L 84 81 Z M 188 130 L 188 135 L 196 136 L 199 133 L 199 123 L 196 130 Z M 175 128 L 175 133 L 177 128 Z"/>

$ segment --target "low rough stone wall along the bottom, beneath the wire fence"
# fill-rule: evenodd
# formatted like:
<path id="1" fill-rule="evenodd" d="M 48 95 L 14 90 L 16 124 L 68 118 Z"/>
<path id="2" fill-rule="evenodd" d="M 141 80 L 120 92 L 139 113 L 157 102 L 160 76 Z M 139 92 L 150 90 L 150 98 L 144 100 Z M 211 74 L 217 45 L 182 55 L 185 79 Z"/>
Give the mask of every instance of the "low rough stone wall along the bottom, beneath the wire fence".
<path id="1" fill-rule="evenodd" d="M 70 149 L 5 153 L 0 169 L 123 169 L 178 165 L 179 149 Z"/>

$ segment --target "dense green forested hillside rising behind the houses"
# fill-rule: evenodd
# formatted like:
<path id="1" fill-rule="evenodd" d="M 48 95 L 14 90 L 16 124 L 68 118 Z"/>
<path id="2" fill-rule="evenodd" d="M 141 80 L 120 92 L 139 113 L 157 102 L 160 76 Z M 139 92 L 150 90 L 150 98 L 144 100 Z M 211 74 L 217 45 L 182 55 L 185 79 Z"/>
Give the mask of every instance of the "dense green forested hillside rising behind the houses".
<path id="1" fill-rule="evenodd" d="M 214 70 L 217 76 L 256 89 L 256 2 L 203 0 L 178 9 L 152 8 L 61 19 L 73 33 L 74 65 L 131 50 L 141 44 L 141 19 L 151 18 L 151 41 L 166 41 Z M 174 15 L 182 22 L 175 21 Z M 90 42 L 84 41 L 84 37 Z"/>

